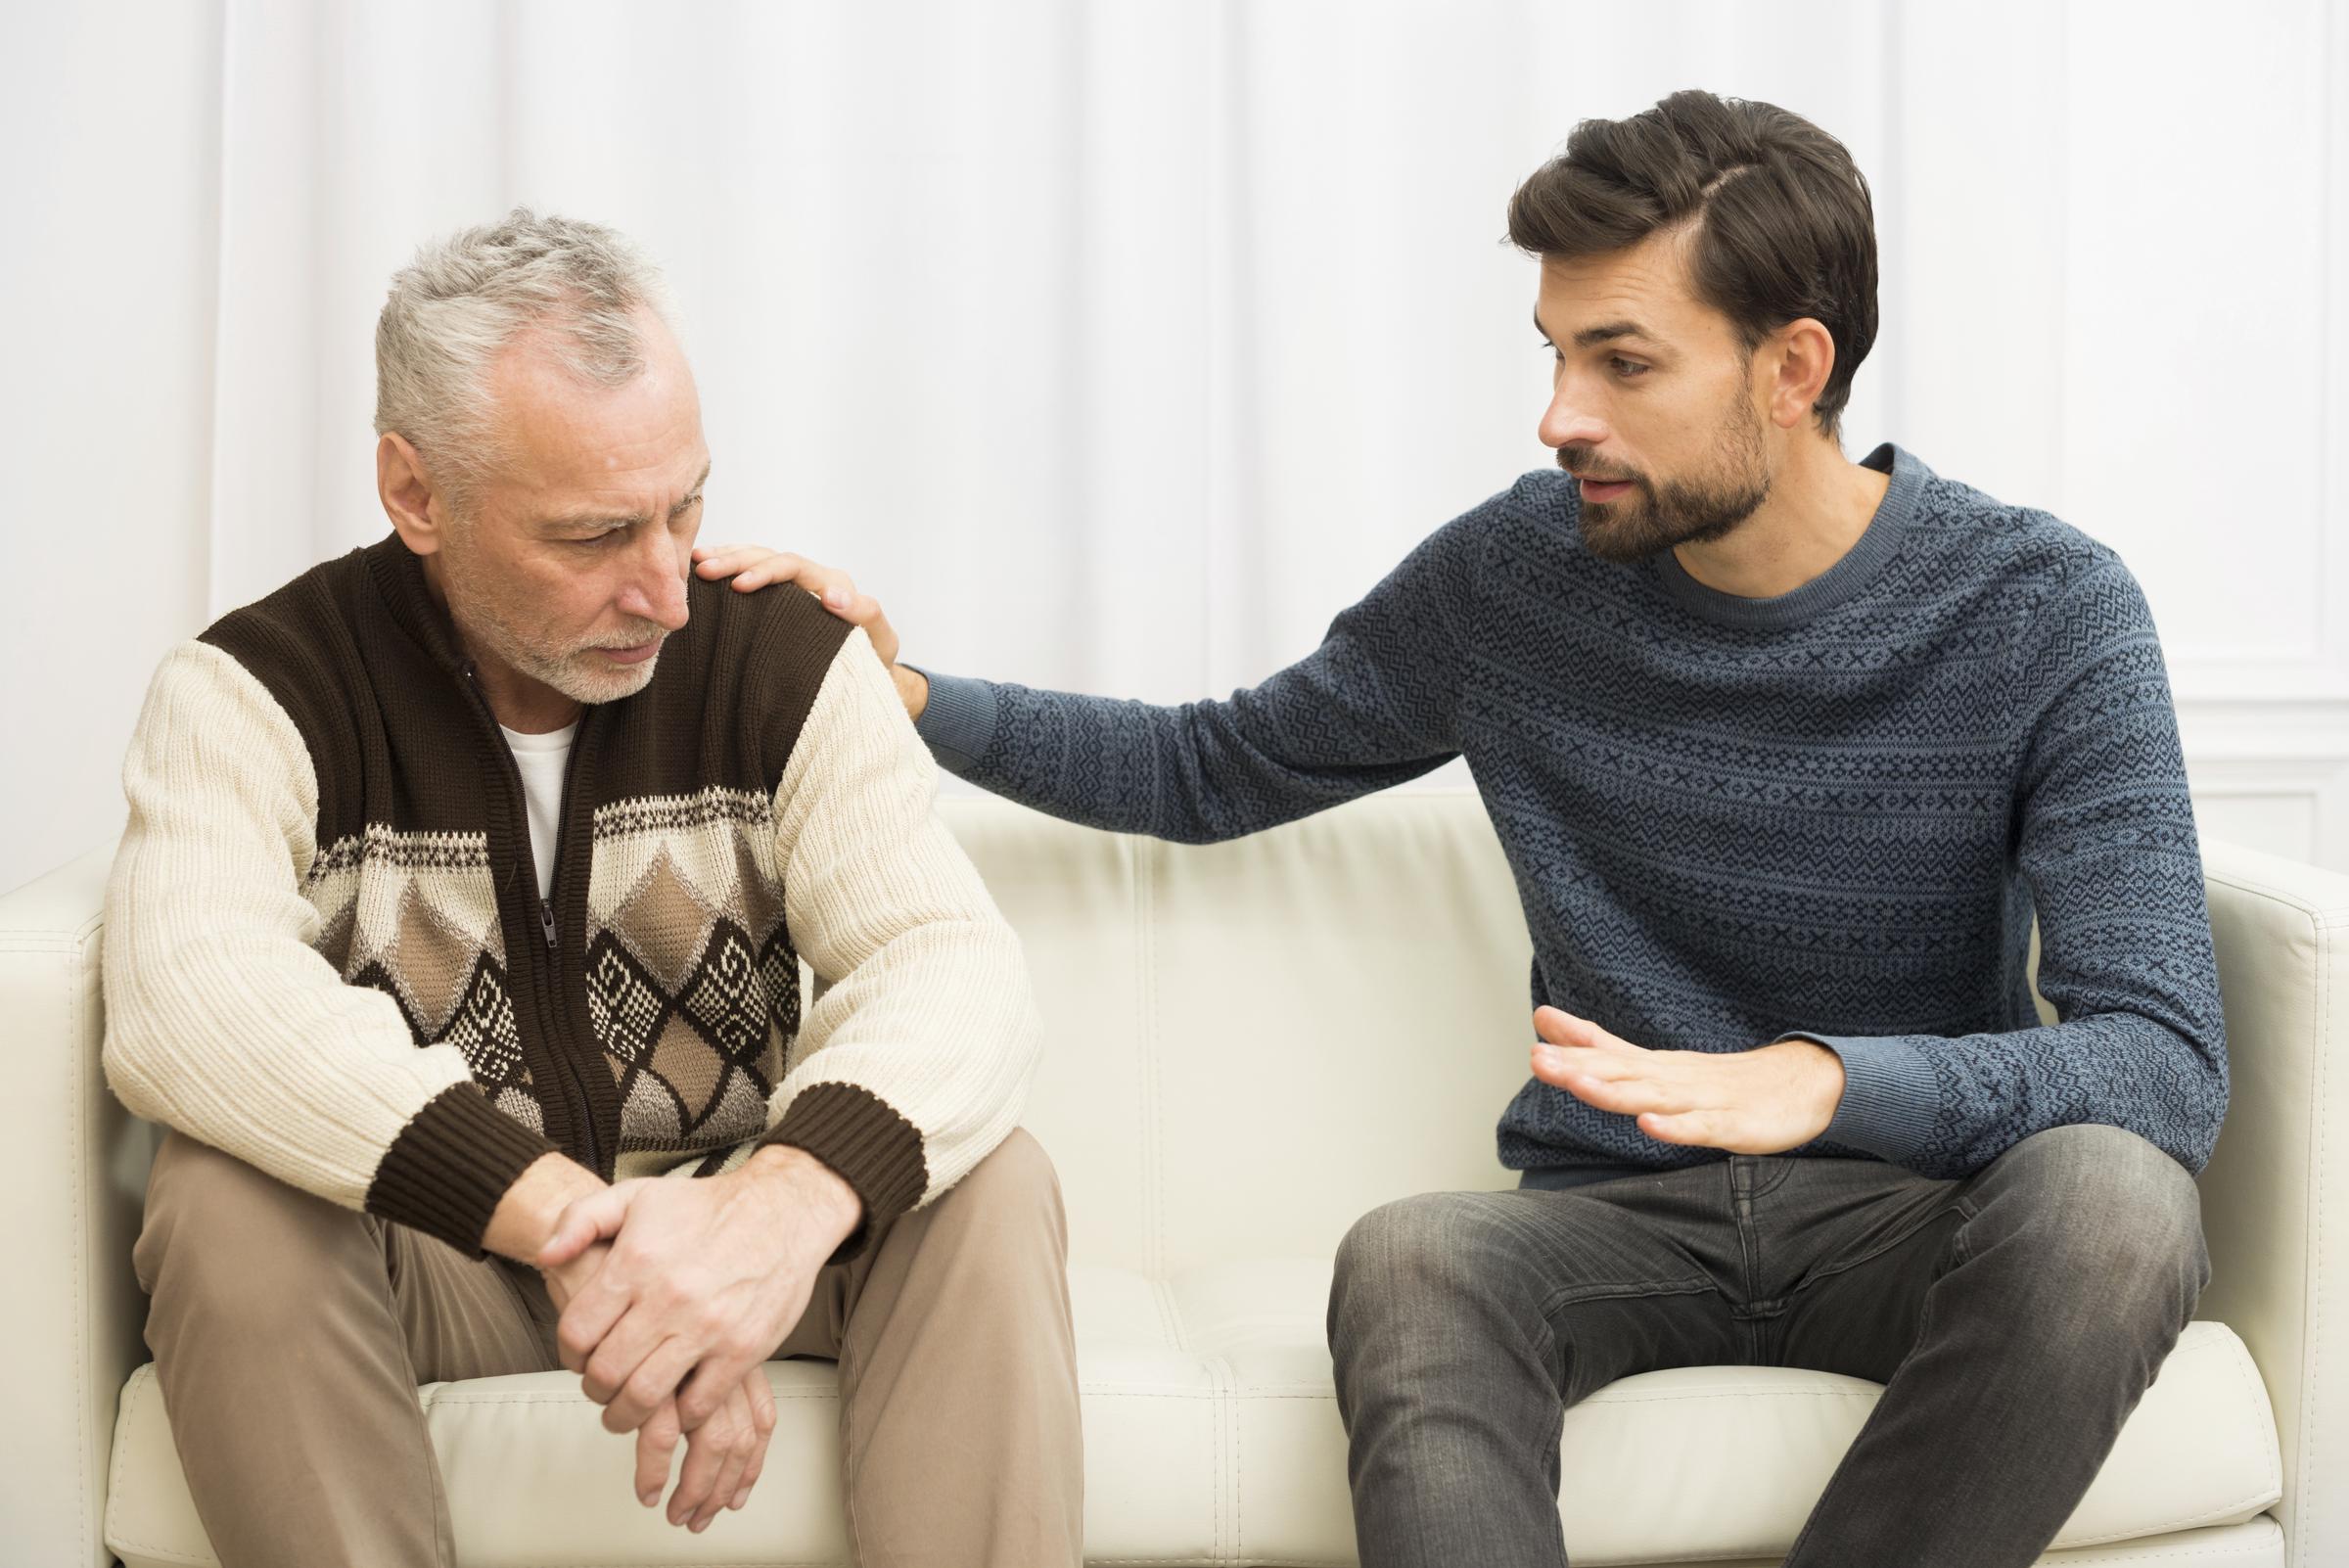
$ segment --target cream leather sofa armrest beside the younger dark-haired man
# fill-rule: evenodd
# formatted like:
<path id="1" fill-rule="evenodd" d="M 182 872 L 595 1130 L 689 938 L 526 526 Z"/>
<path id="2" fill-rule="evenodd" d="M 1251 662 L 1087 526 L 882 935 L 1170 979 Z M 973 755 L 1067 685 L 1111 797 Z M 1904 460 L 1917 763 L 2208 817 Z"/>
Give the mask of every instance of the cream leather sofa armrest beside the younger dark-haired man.
<path id="1" fill-rule="evenodd" d="M 2232 1099 L 2199 1314 L 2250 1345 L 2290 1563 L 2349 1561 L 2349 876 L 2203 840 Z"/>

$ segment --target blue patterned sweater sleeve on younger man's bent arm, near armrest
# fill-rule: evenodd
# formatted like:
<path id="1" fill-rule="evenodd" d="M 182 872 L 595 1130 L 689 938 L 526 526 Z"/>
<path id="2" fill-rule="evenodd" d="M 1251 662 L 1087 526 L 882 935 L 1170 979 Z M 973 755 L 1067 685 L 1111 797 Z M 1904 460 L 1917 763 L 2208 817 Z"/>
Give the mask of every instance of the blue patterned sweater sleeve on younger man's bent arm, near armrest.
<path id="1" fill-rule="evenodd" d="M 2025 641 L 2018 859 L 2058 1023 L 1961 1038 L 1811 1035 L 1844 1063 L 1828 1127 L 1966 1176 L 2048 1127 L 2123 1127 L 2201 1171 L 2227 1113 L 2227 1023 L 2178 716 L 2135 577 L 2100 552 Z"/>

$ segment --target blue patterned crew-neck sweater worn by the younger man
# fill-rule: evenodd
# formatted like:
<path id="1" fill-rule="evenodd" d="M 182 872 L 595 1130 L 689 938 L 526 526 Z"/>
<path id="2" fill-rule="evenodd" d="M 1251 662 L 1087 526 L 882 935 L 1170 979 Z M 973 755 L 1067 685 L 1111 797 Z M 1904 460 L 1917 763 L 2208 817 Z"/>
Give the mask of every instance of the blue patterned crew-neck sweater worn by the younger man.
<path id="1" fill-rule="evenodd" d="M 1534 1002 L 1649 1047 L 1837 1052 L 1802 1155 L 1964 1176 L 2072 1122 L 2199 1171 L 2227 1108 L 2201 857 L 2161 646 L 2121 559 L 1879 446 L 1858 545 L 1778 599 L 1581 547 L 1536 472 L 1447 523 L 1306 660 L 1146 707 L 933 676 L 921 735 L 1038 810 L 1205 843 L 1466 753 Z M 2027 946 L 2041 922 L 2032 1005 Z M 1508 1049 L 1525 1042 L 1431 1042 Z M 1529 1185 L 1717 1160 L 1529 1080 Z"/>

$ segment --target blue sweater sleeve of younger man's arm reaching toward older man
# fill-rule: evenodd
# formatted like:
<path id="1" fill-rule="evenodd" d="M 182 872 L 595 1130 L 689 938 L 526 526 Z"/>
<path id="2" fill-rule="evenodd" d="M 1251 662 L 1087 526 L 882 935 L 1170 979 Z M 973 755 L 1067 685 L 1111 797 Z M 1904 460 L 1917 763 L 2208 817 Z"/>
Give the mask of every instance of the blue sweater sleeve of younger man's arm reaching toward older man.
<path id="1" fill-rule="evenodd" d="M 1494 498 L 1426 538 L 1320 648 L 1224 702 L 1156 707 L 930 676 L 921 737 L 998 796 L 1214 843 L 1416 779 L 1459 753 L 1461 664 Z"/>

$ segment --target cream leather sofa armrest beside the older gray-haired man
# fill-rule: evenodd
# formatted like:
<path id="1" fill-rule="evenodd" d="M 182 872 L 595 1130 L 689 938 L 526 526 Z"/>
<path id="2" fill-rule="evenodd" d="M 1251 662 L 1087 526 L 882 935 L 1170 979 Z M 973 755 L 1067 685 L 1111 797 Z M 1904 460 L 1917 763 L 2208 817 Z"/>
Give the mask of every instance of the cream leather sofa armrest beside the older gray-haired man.
<path id="1" fill-rule="evenodd" d="M 113 845 L 0 897 L 0 1082 L 14 1190 L 0 1202 L 16 1347 L 0 1422 L 12 1561 L 113 1561 L 101 1523 L 115 1397 L 146 1350 L 132 1242 L 155 1129 L 99 1068 L 99 930 Z"/>

